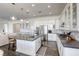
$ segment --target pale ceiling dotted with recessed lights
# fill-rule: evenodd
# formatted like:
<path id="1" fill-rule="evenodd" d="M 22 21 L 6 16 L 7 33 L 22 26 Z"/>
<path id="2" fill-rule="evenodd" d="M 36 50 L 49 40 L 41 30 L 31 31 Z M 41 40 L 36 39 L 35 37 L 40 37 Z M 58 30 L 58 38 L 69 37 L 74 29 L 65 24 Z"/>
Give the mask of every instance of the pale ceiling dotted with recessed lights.
<path id="1" fill-rule="evenodd" d="M 41 16 L 59 15 L 65 7 L 65 3 L 0 3 L 0 18 L 11 20 L 10 17 L 15 16 L 17 19 L 34 18 Z M 48 5 L 51 7 L 48 8 Z M 21 10 L 23 8 L 23 11 Z M 29 12 L 27 11 L 29 10 Z M 51 12 L 51 14 L 49 14 Z"/>

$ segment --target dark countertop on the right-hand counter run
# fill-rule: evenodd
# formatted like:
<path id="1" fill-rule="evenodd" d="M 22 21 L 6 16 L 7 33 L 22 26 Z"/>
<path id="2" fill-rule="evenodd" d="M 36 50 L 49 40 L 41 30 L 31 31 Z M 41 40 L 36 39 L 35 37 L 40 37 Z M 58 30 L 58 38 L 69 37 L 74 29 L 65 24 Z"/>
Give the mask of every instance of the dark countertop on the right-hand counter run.
<path id="1" fill-rule="evenodd" d="M 60 36 L 59 34 L 57 34 L 57 36 L 59 37 L 59 39 L 64 47 L 79 49 L 79 42 L 78 41 L 69 41 L 68 42 L 66 40 L 66 38 Z"/>

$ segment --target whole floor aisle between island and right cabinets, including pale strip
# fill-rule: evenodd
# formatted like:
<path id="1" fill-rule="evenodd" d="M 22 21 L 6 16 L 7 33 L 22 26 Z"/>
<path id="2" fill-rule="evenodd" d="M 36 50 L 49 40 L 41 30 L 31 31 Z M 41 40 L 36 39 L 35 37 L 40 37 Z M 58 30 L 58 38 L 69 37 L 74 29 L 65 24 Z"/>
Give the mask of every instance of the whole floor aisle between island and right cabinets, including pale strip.
<path id="1" fill-rule="evenodd" d="M 45 42 L 45 44 L 40 48 L 40 50 L 38 51 L 38 54 L 42 56 L 58 56 L 59 55 L 56 42 Z"/>

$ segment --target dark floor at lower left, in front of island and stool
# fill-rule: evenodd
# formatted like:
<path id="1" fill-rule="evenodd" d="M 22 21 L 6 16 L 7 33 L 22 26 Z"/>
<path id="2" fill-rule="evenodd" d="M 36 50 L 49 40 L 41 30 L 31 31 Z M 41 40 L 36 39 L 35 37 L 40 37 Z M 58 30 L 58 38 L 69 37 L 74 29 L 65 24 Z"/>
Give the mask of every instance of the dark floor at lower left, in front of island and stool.
<path id="1" fill-rule="evenodd" d="M 4 56 L 28 56 L 19 52 L 16 52 L 15 50 L 8 49 L 8 44 L 1 46 L 0 49 L 4 51 Z"/>

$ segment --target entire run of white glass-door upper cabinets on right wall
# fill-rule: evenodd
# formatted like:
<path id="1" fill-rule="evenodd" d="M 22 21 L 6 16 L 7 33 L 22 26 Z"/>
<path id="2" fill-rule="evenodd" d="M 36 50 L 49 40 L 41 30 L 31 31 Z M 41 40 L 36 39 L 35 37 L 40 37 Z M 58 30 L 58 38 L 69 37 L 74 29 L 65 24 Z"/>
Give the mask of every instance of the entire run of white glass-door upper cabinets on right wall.
<path id="1" fill-rule="evenodd" d="M 78 6 L 76 3 L 66 4 L 59 19 L 60 29 L 63 28 L 64 30 L 77 30 L 77 7 Z"/>

